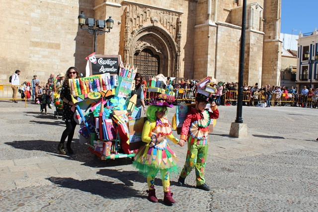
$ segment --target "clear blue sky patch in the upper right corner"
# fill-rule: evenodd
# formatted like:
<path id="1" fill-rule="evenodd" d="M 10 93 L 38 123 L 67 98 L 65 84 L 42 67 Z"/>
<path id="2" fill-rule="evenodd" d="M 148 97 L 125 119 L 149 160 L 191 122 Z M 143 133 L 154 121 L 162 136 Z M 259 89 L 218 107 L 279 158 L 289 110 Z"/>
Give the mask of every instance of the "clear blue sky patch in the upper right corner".
<path id="1" fill-rule="evenodd" d="M 280 32 L 298 35 L 318 28 L 318 0 L 282 0 Z"/>

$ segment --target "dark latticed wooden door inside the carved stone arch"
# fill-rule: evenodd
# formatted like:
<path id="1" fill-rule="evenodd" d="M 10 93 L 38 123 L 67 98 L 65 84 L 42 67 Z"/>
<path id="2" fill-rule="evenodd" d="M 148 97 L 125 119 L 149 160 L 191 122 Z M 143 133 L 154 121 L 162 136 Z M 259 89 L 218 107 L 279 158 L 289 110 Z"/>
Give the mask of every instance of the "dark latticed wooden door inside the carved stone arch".
<path id="1" fill-rule="evenodd" d="M 159 55 L 155 55 L 150 49 L 144 49 L 135 53 L 134 65 L 138 67 L 138 72 L 141 75 L 154 76 L 159 74 L 160 58 Z"/>

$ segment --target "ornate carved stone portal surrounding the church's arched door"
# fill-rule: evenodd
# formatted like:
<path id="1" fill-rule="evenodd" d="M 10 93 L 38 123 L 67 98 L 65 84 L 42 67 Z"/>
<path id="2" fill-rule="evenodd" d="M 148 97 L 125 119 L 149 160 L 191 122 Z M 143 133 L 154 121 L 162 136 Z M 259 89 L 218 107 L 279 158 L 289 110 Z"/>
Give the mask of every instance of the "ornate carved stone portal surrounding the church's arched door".
<path id="1" fill-rule="evenodd" d="M 182 12 L 133 1 L 122 5 L 124 64 L 138 66 L 144 75 L 179 76 Z"/>

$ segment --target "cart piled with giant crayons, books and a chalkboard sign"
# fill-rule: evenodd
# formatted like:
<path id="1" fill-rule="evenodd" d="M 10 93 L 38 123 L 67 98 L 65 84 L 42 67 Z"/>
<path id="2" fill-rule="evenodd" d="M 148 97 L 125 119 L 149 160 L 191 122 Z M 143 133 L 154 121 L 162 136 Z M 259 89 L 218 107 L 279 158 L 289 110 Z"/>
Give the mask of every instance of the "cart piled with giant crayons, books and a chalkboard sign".
<path id="1" fill-rule="evenodd" d="M 134 67 L 124 68 L 120 56 L 90 55 L 86 76 L 69 79 L 80 142 L 102 160 L 134 157 L 145 118 L 135 119 L 137 95 Z"/>

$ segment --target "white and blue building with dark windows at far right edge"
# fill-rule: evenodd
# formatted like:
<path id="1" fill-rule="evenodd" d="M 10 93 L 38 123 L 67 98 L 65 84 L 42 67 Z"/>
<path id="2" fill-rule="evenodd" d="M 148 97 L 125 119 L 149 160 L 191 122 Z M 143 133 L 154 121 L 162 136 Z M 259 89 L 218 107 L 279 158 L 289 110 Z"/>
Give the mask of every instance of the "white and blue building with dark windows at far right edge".
<path id="1" fill-rule="evenodd" d="M 300 32 L 298 38 L 298 55 L 297 55 L 297 75 L 296 84 L 300 90 L 306 85 L 308 88 L 318 87 L 318 62 L 310 63 L 315 60 L 318 54 L 318 31 L 302 34 Z M 305 57 L 308 52 L 309 58 Z"/>

